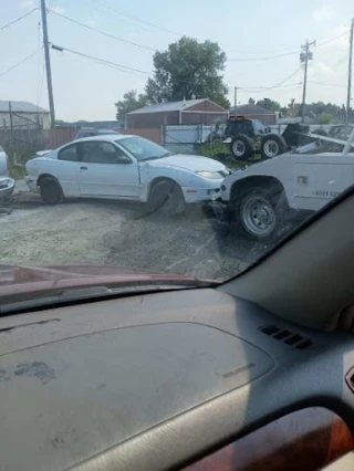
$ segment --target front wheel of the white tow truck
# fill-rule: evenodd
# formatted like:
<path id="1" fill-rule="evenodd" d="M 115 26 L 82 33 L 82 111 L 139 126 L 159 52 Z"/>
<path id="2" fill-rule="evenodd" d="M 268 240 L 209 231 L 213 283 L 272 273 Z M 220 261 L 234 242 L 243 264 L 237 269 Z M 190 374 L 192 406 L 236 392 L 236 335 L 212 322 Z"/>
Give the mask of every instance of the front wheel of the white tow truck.
<path id="1" fill-rule="evenodd" d="M 284 192 L 279 187 L 248 188 L 230 206 L 236 231 L 248 239 L 272 241 L 284 228 L 287 202 Z"/>

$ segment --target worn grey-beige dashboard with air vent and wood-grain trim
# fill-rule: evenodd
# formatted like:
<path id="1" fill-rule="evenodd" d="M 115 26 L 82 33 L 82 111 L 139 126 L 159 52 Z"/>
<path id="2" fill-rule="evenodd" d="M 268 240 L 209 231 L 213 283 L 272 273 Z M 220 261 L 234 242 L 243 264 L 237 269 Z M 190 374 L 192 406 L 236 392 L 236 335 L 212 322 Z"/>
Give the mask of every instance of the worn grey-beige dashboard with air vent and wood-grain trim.
<path id="1" fill-rule="evenodd" d="M 2 317 L 0 355 L 3 470 L 353 467 L 354 337 L 215 289 Z"/>

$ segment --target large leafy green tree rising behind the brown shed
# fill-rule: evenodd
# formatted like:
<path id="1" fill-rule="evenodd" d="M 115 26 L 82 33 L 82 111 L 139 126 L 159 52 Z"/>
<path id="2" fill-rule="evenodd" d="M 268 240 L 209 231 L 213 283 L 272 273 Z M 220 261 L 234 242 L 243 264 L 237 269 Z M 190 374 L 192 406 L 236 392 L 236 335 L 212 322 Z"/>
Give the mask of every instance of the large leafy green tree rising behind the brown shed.
<path id="1" fill-rule="evenodd" d="M 169 44 L 167 51 L 154 54 L 154 78 L 145 91 L 150 102 L 209 98 L 229 108 L 228 87 L 220 74 L 226 54 L 218 43 L 184 36 Z"/>

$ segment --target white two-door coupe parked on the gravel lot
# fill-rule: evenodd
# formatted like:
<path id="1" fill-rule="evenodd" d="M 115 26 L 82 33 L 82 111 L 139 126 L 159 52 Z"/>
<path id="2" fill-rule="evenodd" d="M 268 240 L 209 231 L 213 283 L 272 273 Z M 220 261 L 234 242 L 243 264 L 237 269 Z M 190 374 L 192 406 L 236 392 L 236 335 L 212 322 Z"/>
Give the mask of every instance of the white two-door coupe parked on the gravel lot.
<path id="1" fill-rule="evenodd" d="M 186 203 L 220 198 L 230 174 L 211 158 L 171 155 L 138 136 L 105 135 L 74 140 L 27 163 L 27 184 L 43 200 L 116 198 L 179 212 Z"/>

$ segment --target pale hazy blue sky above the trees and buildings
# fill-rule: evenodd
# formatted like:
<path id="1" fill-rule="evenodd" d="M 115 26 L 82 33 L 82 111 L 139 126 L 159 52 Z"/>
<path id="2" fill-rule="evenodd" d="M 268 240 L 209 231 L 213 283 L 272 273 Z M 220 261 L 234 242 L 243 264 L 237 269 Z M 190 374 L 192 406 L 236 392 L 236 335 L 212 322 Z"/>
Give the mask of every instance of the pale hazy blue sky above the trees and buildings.
<path id="1" fill-rule="evenodd" d="M 1 30 L 39 3 L 0 0 L 0 100 L 48 108 L 40 10 Z M 154 70 L 154 50 L 166 50 L 181 35 L 216 41 L 226 52 L 223 75 L 232 104 L 235 86 L 238 104 L 249 97 L 269 97 L 282 105 L 292 98 L 300 102 L 299 54 L 306 39 L 315 40 L 306 102 L 346 103 L 353 0 L 46 0 L 46 7 L 52 10 L 48 14 L 51 43 L 135 70 L 51 50 L 56 119 L 115 119 L 114 104 L 124 93 L 144 92 Z M 60 14 L 138 45 L 104 36 Z"/>

